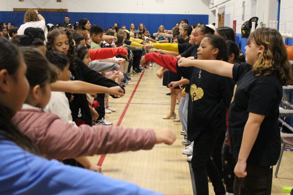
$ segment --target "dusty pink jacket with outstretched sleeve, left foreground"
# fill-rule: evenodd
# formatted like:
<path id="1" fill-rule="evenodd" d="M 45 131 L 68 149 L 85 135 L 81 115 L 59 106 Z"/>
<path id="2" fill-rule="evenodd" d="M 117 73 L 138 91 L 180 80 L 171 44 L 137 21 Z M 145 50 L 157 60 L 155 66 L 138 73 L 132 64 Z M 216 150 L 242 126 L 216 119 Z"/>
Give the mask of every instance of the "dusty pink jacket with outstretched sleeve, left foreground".
<path id="1" fill-rule="evenodd" d="M 22 109 L 12 121 L 46 158 L 75 158 L 153 148 L 153 130 L 103 125 L 74 127 L 57 115 L 37 109 Z"/>

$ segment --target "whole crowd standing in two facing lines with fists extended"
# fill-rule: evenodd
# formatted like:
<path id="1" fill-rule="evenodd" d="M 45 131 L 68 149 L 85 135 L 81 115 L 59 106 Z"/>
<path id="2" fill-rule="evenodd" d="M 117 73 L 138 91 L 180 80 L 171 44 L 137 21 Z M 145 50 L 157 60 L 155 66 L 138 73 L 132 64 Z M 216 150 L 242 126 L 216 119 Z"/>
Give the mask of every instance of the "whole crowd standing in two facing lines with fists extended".
<path id="1" fill-rule="evenodd" d="M 109 96 L 124 96 L 131 77 L 156 64 L 171 90 L 163 119 L 182 124 L 197 194 L 209 194 L 208 180 L 217 195 L 270 194 L 282 85 L 292 83 L 279 32 L 252 32 L 245 56 L 229 27 L 183 19 L 150 36 L 143 23 L 104 30 L 64 20 L 46 25 L 28 9 L 19 28 L 0 23 L 0 194 L 159 194 L 103 176 L 86 158 L 173 144 L 171 130 L 105 118 L 116 111 Z"/>

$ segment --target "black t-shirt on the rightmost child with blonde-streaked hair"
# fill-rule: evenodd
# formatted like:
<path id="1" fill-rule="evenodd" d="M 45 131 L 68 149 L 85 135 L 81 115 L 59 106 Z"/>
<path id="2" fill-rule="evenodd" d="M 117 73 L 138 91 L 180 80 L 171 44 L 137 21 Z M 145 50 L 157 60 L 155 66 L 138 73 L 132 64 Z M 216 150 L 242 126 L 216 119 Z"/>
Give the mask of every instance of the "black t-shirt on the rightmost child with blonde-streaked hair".
<path id="1" fill-rule="evenodd" d="M 251 112 L 265 115 L 247 163 L 275 165 L 281 148 L 278 118 L 279 104 L 283 96 L 277 72 L 267 76 L 255 76 L 251 65 L 235 64 L 233 79 L 236 84 L 228 116 L 230 152 L 234 158 L 238 158 L 248 114 Z"/>

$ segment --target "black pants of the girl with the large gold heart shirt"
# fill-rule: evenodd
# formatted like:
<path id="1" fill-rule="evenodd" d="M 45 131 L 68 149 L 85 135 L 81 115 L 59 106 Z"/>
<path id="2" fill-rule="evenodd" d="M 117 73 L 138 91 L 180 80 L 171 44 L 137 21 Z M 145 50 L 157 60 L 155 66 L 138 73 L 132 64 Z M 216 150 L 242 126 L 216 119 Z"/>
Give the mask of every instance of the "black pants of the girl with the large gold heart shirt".
<path id="1" fill-rule="evenodd" d="M 204 130 L 194 140 L 191 166 L 195 179 L 196 193 L 200 195 L 209 194 L 207 176 L 209 176 L 212 182 L 216 195 L 226 193 L 219 171 L 211 159 L 212 149 L 218 135 L 219 130 Z"/>

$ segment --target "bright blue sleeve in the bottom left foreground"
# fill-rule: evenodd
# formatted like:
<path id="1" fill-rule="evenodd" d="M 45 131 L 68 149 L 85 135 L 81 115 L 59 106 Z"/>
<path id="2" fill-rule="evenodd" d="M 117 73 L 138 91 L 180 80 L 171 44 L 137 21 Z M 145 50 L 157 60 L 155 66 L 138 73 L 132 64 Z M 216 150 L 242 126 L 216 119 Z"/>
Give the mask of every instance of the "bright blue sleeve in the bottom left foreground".
<path id="1" fill-rule="evenodd" d="M 0 194 L 160 194 L 83 168 L 47 160 L 0 135 Z"/>

